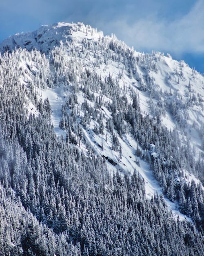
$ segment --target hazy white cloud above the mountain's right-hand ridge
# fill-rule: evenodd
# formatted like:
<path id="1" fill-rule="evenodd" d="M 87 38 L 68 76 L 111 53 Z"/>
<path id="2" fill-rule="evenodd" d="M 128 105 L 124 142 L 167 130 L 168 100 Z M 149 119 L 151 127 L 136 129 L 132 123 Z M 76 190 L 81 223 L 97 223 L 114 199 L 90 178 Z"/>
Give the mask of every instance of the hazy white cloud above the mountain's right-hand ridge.
<path id="1" fill-rule="evenodd" d="M 136 50 L 204 52 L 204 1 L 198 0 L 188 14 L 173 21 L 151 16 L 128 24 L 126 18 L 112 21 L 110 31 Z"/>

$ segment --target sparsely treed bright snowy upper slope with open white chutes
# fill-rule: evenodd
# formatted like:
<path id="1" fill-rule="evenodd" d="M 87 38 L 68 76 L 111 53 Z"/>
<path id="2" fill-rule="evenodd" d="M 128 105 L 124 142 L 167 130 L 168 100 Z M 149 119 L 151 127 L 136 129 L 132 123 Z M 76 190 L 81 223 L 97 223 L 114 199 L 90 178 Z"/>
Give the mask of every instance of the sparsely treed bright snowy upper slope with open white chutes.
<path id="1" fill-rule="evenodd" d="M 102 32 L 97 32 L 96 29 L 82 23 L 42 26 L 34 32 L 11 36 L 0 44 L 2 53 L 15 48 L 26 48 L 29 51 L 36 48 L 44 52 L 49 59 L 47 75 L 53 77 L 52 83 L 45 88 L 39 88 L 35 83 L 33 86 L 38 92 L 39 99 L 49 98 L 55 132 L 66 138 L 68 128 L 63 125 L 63 118 L 67 118 L 66 115 L 75 115 L 75 122 L 80 124 L 84 137 L 80 141 L 74 135 L 78 143 L 80 141 L 79 147 L 86 154 L 89 154 L 91 148 L 95 154 L 104 157 L 111 173 L 117 170 L 122 174 L 133 173 L 137 169 L 145 180 L 147 197 L 151 198 L 156 191 L 162 193 L 162 186 L 153 177 L 151 165 L 136 156 L 136 149 L 144 151 L 133 134 L 127 131 L 126 121 L 123 122 L 122 134 L 115 128 L 112 132 L 107 128 L 106 124 L 112 117 L 111 104 L 114 104 L 114 94 L 106 92 L 105 95 L 95 89 L 91 91 L 89 83 L 94 84 L 93 81 L 89 81 L 91 74 L 97 76 L 100 83 L 108 84 L 114 81 L 114 86 L 118 86 L 117 93 L 120 96 L 124 95 L 124 101 L 127 103 L 132 104 L 135 94 L 144 117 L 151 116 L 155 122 L 161 122 L 171 131 L 177 129 L 182 143 L 186 144 L 187 140 L 194 147 L 194 158 L 198 159 L 199 154 L 203 156 L 204 77 L 189 68 L 184 61 L 175 61 L 169 54 L 164 56 L 160 52 L 135 52 L 118 41 L 115 36 L 104 37 Z M 126 59 L 129 59 L 129 63 Z M 29 65 L 27 62 L 24 63 L 25 69 L 30 69 L 30 66 L 38 71 L 35 61 Z M 72 79 L 69 78 L 70 74 Z M 35 72 L 29 72 L 29 78 L 24 77 L 26 79 L 22 79 L 22 84 L 33 81 L 33 77 Z M 70 104 L 66 102 L 71 101 L 73 91 L 76 99 L 75 106 L 71 109 Z M 101 101 L 98 106 L 96 98 Z M 64 111 L 67 111 L 66 115 L 62 113 L 63 104 Z M 34 107 L 31 108 L 29 105 L 28 109 Z M 85 117 L 88 109 L 95 109 L 99 118 Z M 120 113 L 119 109 L 120 106 L 117 106 L 116 113 Z M 100 116 L 103 125 L 100 123 Z M 62 129 L 59 128 L 60 122 Z M 103 127 L 103 131 L 96 131 L 100 126 Z M 120 149 L 119 146 L 118 149 L 113 149 L 113 134 L 118 138 Z M 149 152 L 150 156 L 157 157 L 155 145 L 151 145 Z M 192 179 L 196 183 L 200 182 L 193 174 L 189 174 L 188 170 L 182 171 L 187 182 Z M 169 199 L 166 199 L 166 203 L 174 215 L 184 217 L 177 210 L 175 203 Z"/>

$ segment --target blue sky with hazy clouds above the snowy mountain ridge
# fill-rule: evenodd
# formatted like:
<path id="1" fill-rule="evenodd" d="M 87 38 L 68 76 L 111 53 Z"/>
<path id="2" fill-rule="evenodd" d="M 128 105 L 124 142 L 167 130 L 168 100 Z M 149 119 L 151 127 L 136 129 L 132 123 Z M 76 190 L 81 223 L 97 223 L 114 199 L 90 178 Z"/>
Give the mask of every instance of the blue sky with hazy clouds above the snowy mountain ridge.
<path id="1" fill-rule="evenodd" d="M 169 52 L 204 73 L 204 0 L 0 0 L 0 41 L 59 21 L 114 33 L 141 52 Z"/>

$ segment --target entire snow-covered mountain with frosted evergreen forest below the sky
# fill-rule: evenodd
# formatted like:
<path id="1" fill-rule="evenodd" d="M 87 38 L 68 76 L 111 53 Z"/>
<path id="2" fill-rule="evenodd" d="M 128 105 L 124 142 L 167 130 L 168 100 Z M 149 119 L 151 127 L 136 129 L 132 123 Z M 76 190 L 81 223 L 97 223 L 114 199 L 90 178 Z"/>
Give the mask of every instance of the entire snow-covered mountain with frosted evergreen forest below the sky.
<path id="1" fill-rule="evenodd" d="M 82 23 L 0 51 L 0 255 L 202 255 L 204 77 Z"/>

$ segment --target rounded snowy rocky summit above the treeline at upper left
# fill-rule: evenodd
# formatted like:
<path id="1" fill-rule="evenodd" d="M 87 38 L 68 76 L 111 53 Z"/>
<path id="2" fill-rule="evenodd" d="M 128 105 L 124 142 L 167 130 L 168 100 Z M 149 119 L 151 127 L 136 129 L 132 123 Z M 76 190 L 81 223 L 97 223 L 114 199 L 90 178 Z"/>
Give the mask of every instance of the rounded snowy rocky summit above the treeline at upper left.
<path id="1" fill-rule="evenodd" d="M 9 36 L 0 44 L 0 52 L 11 52 L 15 48 L 26 48 L 27 50 L 37 49 L 48 53 L 54 46 L 60 45 L 60 41 L 72 41 L 98 39 L 103 36 L 102 32 L 97 32 L 89 25 L 83 23 L 54 23 L 52 25 L 42 25 L 33 32 L 15 34 Z"/>

